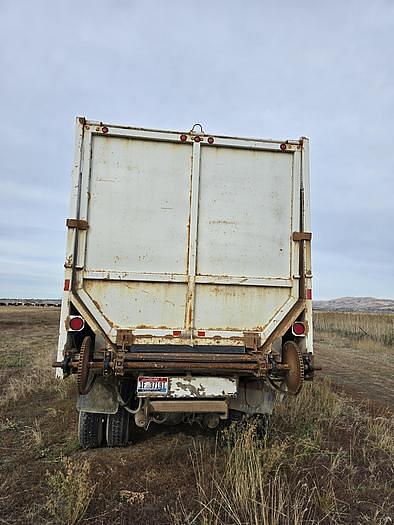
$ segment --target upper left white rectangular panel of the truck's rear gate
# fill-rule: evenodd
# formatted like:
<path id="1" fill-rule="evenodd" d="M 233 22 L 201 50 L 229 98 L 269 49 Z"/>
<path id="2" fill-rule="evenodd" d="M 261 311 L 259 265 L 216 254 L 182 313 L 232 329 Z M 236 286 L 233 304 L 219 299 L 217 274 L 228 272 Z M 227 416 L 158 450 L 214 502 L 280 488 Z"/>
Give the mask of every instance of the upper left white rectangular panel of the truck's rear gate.
<path id="1" fill-rule="evenodd" d="M 94 136 L 86 270 L 187 273 L 191 146 Z"/>

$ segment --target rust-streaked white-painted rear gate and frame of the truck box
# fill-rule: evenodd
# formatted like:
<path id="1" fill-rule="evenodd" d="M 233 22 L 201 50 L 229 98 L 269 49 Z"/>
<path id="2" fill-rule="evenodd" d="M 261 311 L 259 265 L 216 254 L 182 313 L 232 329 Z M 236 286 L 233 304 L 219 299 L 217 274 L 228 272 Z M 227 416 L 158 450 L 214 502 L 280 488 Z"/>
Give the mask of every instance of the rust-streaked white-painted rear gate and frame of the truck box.
<path id="1" fill-rule="evenodd" d="M 71 218 L 89 223 L 78 232 L 81 314 L 112 341 L 123 328 L 138 344 L 239 346 L 248 330 L 264 342 L 298 298 L 292 233 L 301 175 L 310 224 L 307 141 L 283 152 L 281 141 L 209 145 L 190 134 L 183 143 L 181 132 L 108 128 L 87 122 L 82 134 L 78 124 Z M 182 336 L 171 341 L 173 330 Z M 61 326 L 58 359 L 64 342 Z"/>

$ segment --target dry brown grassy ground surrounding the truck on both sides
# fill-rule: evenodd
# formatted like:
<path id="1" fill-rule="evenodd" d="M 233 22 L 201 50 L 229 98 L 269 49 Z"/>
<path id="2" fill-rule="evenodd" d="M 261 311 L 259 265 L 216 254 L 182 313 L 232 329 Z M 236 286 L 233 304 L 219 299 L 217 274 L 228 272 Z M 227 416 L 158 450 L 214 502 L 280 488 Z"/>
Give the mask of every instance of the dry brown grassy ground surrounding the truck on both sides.
<path id="1" fill-rule="evenodd" d="M 50 368 L 58 315 L 0 308 L 0 523 L 393 522 L 393 346 L 380 320 L 363 317 L 359 336 L 359 319 L 318 314 L 324 370 L 278 404 L 264 440 L 253 421 L 220 436 L 157 426 L 125 449 L 83 451 L 75 383 Z"/>

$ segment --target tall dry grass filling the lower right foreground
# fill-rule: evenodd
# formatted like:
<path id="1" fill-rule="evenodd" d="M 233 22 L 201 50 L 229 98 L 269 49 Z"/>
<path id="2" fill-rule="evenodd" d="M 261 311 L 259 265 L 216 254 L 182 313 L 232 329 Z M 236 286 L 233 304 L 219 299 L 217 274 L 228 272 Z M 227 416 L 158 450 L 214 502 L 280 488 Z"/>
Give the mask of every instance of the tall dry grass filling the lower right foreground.
<path id="1" fill-rule="evenodd" d="M 195 506 L 179 501 L 175 524 L 386 525 L 394 515 L 393 423 L 327 381 L 279 403 L 265 440 L 253 422 L 227 438 L 213 452 L 195 446 Z"/>

